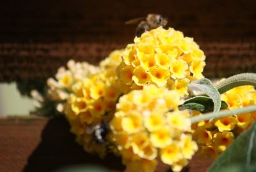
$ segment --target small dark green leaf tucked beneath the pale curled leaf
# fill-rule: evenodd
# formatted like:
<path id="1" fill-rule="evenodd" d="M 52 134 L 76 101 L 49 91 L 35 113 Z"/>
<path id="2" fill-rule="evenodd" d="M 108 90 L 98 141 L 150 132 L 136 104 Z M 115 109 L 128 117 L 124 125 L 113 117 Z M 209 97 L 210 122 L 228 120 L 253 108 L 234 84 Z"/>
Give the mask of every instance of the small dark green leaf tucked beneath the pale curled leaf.
<path id="1" fill-rule="evenodd" d="M 221 101 L 221 110 L 228 107 L 225 101 Z M 214 103 L 211 98 L 205 96 L 196 96 L 188 99 L 179 106 L 179 110 L 197 110 L 201 113 L 207 113 L 214 110 Z"/>

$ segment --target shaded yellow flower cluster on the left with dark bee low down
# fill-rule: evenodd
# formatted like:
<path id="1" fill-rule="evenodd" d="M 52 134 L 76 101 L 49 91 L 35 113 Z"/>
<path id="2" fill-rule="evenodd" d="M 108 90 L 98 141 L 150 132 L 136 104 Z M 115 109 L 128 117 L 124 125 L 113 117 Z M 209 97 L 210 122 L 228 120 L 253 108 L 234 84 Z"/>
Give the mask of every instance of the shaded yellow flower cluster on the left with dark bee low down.
<path id="1" fill-rule="evenodd" d="M 115 51 L 100 63 L 100 71 L 72 85 L 72 94 L 65 105 L 65 115 L 76 134 L 77 142 L 87 152 L 97 152 L 100 157 L 106 155 L 106 145 L 97 143 L 93 138 L 95 128 L 102 122 L 108 122 L 115 112 L 120 97 L 120 82 L 115 73 L 118 57 L 122 52 Z"/>

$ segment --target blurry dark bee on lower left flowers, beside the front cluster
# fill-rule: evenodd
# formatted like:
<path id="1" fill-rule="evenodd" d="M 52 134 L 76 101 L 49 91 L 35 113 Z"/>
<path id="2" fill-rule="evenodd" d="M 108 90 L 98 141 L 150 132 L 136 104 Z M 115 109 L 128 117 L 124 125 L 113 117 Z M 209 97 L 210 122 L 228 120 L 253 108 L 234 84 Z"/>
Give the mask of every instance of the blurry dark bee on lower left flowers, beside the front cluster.
<path id="1" fill-rule="evenodd" d="M 107 122 L 102 121 L 100 124 L 93 127 L 93 139 L 96 143 L 104 144 L 106 143 L 106 135 L 109 132 L 109 125 Z"/>

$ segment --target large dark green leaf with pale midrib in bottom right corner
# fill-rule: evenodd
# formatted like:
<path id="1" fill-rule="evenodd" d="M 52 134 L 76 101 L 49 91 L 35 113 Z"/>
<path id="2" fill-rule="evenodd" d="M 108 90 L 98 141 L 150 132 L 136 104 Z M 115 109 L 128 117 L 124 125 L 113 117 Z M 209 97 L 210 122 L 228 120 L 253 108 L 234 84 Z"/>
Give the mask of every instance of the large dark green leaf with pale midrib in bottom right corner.
<path id="1" fill-rule="evenodd" d="M 208 172 L 217 172 L 227 166 L 241 164 L 247 168 L 256 164 L 256 123 L 244 131 L 212 164 Z"/>

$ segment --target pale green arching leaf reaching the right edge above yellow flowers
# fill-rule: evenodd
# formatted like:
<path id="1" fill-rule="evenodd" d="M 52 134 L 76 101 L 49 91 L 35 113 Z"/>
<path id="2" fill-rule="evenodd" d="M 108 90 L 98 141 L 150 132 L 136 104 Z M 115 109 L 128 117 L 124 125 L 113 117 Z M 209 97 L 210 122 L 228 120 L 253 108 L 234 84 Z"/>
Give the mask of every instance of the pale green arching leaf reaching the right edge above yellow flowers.
<path id="1" fill-rule="evenodd" d="M 220 94 L 223 94 L 227 90 L 243 85 L 256 86 L 256 73 L 241 73 L 238 75 L 231 76 L 223 80 L 223 82 L 220 82 L 218 85 L 216 85 L 216 88 L 218 89 Z"/>

